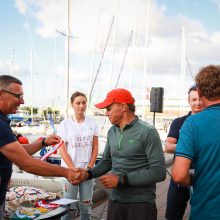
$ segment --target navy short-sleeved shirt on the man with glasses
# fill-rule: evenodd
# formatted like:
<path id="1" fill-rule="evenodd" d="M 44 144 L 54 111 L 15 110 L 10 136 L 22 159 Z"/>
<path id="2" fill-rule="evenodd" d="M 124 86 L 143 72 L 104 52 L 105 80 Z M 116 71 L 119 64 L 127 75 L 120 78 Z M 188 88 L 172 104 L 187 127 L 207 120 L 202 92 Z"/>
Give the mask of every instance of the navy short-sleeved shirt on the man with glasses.
<path id="1" fill-rule="evenodd" d="M 0 112 L 0 148 L 16 141 L 10 126 L 10 120 Z M 0 205 L 5 201 L 7 184 L 12 173 L 12 163 L 0 152 Z"/>

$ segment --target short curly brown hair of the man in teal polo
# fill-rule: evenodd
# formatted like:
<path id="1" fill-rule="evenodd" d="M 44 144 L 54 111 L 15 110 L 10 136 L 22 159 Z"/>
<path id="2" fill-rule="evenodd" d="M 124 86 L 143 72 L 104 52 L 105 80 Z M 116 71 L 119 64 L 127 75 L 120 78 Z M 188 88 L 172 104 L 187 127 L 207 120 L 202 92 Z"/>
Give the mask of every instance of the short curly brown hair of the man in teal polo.
<path id="1" fill-rule="evenodd" d="M 195 80 L 201 95 L 210 101 L 220 99 L 220 65 L 203 67 Z"/>

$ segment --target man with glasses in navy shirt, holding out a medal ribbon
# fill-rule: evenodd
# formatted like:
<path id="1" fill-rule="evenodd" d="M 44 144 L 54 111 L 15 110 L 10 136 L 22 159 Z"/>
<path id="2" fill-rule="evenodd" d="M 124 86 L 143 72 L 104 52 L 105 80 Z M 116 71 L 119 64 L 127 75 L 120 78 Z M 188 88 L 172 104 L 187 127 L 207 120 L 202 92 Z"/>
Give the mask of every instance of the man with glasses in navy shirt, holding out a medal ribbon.
<path id="1" fill-rule="evenodd" d="M 65 177 L 70 182 L 79 175 L 70 168 L 34 159 L 30 155 L 41 148 L 57 144 L 60 138 L 51 135 L 32 144 L 21 145 L 13 134 L 8 114 L 16 113 L 18 107 L 24 104 L 22 82 L 9 75 L 0 76 L 0 220 L 4 219 L 4 204 L 8 182 L 12 174 L 12 163 L 22 170 L 41 176 Z"/>

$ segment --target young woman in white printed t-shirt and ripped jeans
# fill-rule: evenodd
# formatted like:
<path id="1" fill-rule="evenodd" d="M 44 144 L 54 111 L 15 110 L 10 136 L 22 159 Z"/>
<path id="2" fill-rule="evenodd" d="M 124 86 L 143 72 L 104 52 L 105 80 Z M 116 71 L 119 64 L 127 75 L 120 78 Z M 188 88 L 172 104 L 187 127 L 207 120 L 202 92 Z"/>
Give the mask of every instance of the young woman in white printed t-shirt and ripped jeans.
<path id="1" fill-rule="evenodd" d="M 58 135 L 65 141 L 60 147 L 61 164 L 71 168 L 92 168 L 98 154 L 98 130 L 94 119 L 85 116 L 86 95 L 75 92 L 71 96 L 72 117 L 65 119 L 58 127 Z M 79 192 L 80 219 L 91 219 L 92 193 L 94 180 L 73 186 L 63 180 L 64 197 L 77 199 Z M 67 214 L 62 220 L 70 219 Z"/>

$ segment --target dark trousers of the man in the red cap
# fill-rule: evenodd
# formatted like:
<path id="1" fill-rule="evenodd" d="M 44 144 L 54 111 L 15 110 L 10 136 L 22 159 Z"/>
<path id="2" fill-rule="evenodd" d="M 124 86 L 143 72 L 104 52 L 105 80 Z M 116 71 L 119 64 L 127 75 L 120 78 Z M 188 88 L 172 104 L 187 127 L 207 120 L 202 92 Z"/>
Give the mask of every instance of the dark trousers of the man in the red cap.
<path id="1" fill-rule="evenodd" d="M 148 202 L 120 203 L 109 200 L 107 220 L 156 220 L 157 208 Z"/>

